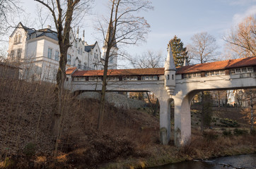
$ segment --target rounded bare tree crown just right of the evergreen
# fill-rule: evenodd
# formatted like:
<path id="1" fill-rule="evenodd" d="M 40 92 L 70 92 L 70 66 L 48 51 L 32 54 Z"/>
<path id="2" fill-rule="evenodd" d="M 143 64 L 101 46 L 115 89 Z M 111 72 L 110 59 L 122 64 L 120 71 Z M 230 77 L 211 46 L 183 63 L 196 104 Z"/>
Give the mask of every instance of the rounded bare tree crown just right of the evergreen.
<path id="1" fill-rule="evenodd" d="M 216 44 L 216 39 L 207 32 L 195 34 L 192 38 L 192 43 L 187 46 L 188 55 L 196 63 L 206 63 L 216 61 L 217 51 L 219 46 Z"/>

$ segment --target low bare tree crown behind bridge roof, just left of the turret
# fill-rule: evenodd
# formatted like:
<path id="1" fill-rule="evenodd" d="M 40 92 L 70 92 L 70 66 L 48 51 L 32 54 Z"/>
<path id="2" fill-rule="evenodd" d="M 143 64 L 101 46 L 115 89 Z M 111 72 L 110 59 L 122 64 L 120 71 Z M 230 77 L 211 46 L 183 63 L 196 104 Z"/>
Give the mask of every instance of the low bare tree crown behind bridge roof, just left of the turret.
<path id="1" fill-rule="evenodd" d="M 163 55 L 160 51 L 146 51 L 141 56 L 131 56 L 129 61 L 134 68 L 160 68 L 164 63 Z"/>

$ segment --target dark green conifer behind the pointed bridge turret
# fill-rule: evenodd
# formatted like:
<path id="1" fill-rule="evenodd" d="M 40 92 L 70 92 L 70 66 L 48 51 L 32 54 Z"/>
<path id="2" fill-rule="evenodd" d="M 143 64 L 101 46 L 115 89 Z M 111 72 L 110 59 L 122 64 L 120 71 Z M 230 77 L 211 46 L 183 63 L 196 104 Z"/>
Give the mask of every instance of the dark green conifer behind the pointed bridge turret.
<path id="1" fill-rule="evenodd" d="M 170 44 L 172 45 L 173 58 L 175 66 L 182 66 L 184 63 L 184 58 L 187 59 L 187 48 L 183 46 L 183 42 L 180 41 L 176 35 L 173 39 L 170 39 Z M 187 63 L 189 63 L 187 59 Z"/>

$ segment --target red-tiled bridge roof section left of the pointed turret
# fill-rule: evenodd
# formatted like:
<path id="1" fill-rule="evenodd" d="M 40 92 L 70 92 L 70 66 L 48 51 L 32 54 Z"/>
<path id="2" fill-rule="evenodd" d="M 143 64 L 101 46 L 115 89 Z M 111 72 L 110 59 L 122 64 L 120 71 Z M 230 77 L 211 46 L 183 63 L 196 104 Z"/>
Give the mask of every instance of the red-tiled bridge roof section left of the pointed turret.
<path id="1" fill-rule="evenodd" d="M 112 69 L 107 71 L 108 76 L 117 75 L 163 75 L 164 68 L 144 69 Z M 103 76 L 103 70 L 77 70 L 73 76 Z"/>

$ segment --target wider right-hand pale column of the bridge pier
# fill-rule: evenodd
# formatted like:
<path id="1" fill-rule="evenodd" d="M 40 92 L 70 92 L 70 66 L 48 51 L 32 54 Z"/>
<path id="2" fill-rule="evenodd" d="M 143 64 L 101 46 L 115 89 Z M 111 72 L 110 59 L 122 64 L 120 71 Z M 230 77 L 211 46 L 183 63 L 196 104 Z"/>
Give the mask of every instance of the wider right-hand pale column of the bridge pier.
<path id="1" fill-rule="evenodd" d="M 173 96 L 174 123 L 175 123 L 175 146 L 182 146 L 190 141 L 191 137 L 191 116 L 190 116 L 190 97 Z"/>

